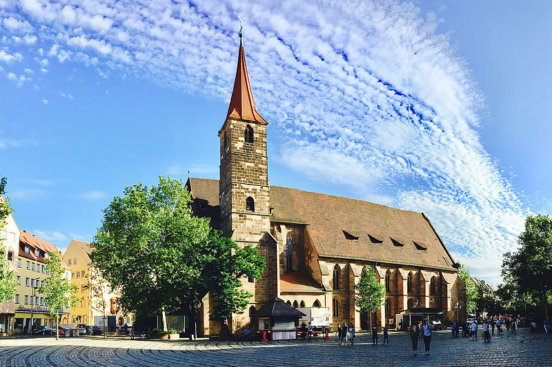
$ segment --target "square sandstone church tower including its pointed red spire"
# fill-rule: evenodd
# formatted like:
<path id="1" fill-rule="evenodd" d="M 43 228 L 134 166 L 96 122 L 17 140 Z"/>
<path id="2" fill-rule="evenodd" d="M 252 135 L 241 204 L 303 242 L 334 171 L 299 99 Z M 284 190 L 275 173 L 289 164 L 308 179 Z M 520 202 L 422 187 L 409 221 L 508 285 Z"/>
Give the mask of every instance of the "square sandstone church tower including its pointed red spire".
<path id="1" fill-rule="evenodd" d="M 275 297 L 271 256 L 275 249 L 270 240 L 270 187 L 268 186 L 268 157 L 266 154 L 266 126 L 268 123 L 257 112 L 246 66 L 246 55 L 239 34 L 239 54 L 234 89 L 220 138 L 219 210 L 220 229 L 239 246 L 251 245 L 264 255 L 267 268 L 262 279 L 242 284 L 252 293 L 251 305 Z M 273 255 L 274 256 L 274 255 Z M 274 269 L 275 271 L 275 269 Z M 271 284 L 273 283 L 273 284 Z M 253 308 L 251 308 L 253 311 Z M 239 317 L 248 322 L 248 311 Z M 239 321 L 239 320 L 238 320 Z M 240 322 L 235 327 L 239 327 Z"/>

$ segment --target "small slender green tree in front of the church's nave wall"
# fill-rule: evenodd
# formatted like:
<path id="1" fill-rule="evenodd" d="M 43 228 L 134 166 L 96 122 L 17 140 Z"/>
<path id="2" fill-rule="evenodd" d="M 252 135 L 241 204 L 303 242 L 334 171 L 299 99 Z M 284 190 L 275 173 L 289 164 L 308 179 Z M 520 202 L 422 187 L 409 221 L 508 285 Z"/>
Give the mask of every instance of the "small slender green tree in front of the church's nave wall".
<path id="1" fill-rule="evenodd" d="M 370 328 L 372 328 L 372 313 L 380 309 L 384 303 L 385 286 L 377 280 L 374 268 L 364 268 L 360 279 L 355 284 L 353 301 L 362 313 L 370 314 Z"/>

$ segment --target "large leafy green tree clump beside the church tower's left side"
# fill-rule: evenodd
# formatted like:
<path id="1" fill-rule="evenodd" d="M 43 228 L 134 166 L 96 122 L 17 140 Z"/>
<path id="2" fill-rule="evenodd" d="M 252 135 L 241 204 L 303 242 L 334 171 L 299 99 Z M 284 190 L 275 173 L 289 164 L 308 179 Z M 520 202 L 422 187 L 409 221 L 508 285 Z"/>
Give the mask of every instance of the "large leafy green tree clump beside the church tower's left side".
<path id="1" fill-rule="evenodd" d="M 213 319 L 244 311 L 250 293 L 244 275 L 259 278 L 265 260 L 253 247 L 238 247 L 193 216 L 181 180 L 159 177 L 159 185 L 126 187 L 103 211 L 92 241 L 92 263 L 120 295 L 118 304 L 137 315 L 163 316 L 188 307 L 199 312 L 209 291 L 217 300 Z"/>

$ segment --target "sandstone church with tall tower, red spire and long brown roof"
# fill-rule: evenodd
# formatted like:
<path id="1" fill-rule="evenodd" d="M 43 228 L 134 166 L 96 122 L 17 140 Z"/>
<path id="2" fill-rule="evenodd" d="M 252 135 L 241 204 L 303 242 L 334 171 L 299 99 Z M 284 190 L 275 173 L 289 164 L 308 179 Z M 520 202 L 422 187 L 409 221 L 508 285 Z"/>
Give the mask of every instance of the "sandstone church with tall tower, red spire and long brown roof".
<path id="1" fill-rule="evenodd" d="M 233 315 L 230 331 L 249 327 L 253 313 L 274 297 L 293 307 L 328 307 L 330 325 L 347 322 L 357 330 L 370 323 L 395 327 L 396 314 L 414 309 L 439 313 L 444 322 L 464 319 L 459 264 L 424 213 L 269 184 L 268 122 L 255 107 L 239 36 L 234 88 L 218 133 L 219 180 L 186 182 L 196 216 L 266 258 L 261 279 L 242 279 L 253 297 L 244 313 Z M 364 267 L 375 268 L 386 288 L 369 321 L 353 302 Z M 209 295 L 202 302 L 203 335 L 221 331 L 208 317 L 213 302 Z"/>

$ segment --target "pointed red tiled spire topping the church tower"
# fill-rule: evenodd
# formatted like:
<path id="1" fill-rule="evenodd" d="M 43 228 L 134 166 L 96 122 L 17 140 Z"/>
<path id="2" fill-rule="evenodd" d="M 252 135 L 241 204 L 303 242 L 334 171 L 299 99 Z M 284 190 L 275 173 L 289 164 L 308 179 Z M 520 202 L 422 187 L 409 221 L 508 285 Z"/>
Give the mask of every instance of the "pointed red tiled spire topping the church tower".
<path id="1" fill-rule="evenodd" d="M 234 81 L 234 90 L 232 91 L 232 98 L 230 98 L 226 119 L 229 117 L 268 124 L 255 108 L 253 92 L 251 92 L 251 85 L 249 83 L 249 75 L 247 74 L 246 53 L 244 51 L 241 33 L 239 34 L 239 55 L 237 56 L 236 79 Z"/>

